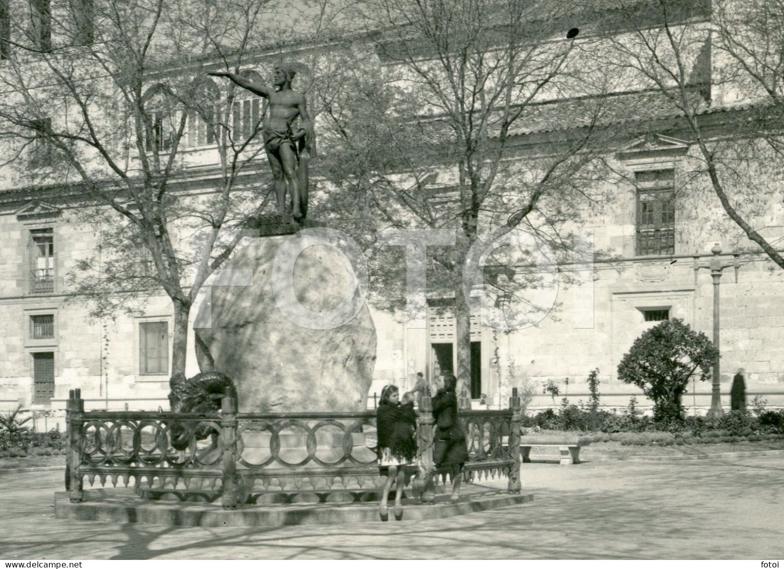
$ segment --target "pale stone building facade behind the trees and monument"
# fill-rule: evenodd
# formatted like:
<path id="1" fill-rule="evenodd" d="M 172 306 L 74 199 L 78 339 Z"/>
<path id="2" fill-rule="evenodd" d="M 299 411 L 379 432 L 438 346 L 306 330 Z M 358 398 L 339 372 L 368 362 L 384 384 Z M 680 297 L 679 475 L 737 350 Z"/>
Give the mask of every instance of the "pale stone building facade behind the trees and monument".
<path id="1" fill-rule="evenodd" d="M 264 60 L 260 67 L 267 64 Z M 713 92 L 714 102 L 722 97 L 731 100 L 728 93 Z M 241 104 L 248 116 L 260 112 L 258 103 Z M 732 112 L 722 108 L 705 112 L 714 130 Z M 216 158 L 209 140 L 199 140 L 198 125 L 188 128 L 194 129 L 186 135 L 192 144 L 188 183 L 204 190 L 209 183 L 199 180 L 209 177 Z M 759 394 L 769 404 L 784 405 L 784 273 L 726 219 L 704 180 L 693 176 L 700 168 L 694 148 L 677 134 L 652 126 L 645 136 L 608 150 L 606 158 L 619 172 L 602 181 L 612 200 L 600 211 L 586 211 L 580 227 L 597 254 L 555 270 L 542 291 L 550 310 L 533 325 L 510 332 L 483 325 L 476 315 L 472 398 L 485 393 L 492 404 L 505 406 L 517 386 L 531 395 L 532 408 L 552 406 L 559 402 L 543 393 L 543 383 L 553 381 L 576 403 L 587 399 L 586 377 L 597 368 L 602 404 L 622 408 L 637 397 L 644 406 L 641 393 L 617 379 L 619 361 L 641 332 L 663 319 L 682 318 L 711 337 L 713 284 L 700 265 L 719 243 L 722 258 L 734 263 L 720 284 L 724 406 L 731 378 L 741 369 L 750 398 Z M 535 130 L 521 132 L 518 143 L 535 144 L 536 136 Z M 259 169 L 263 162 L 259 158 Z M 0 176 L 0 408 L 21 404 L 37 416 L 61 417 L 74 387 L 82 389 L 89 408 L 165 408 L 172 347 L 169 299 L 151 294 L 139 313 L 91 320 L 85 299 L 71 294 L 67 279 L 78 260 L 96 250 L 100 233 L 77 215 L 62 188 L 20 187 L 8 174 L 13 167 L 5 166 Z M 781 183 L 771 179 L 779 191 Z M 777 195 L 771 193 L 768 206 L 751 220 L 774 243 L 784 237 L 784 208 Z M 578 278 L 564 278 L 570 272 Z M 198 306 L 191 317 L 196 313 Z M 455 368 L 448 299 L 433 299 L 423 327 L 375 309 L 372 317 L 378 346 L 368 404 L 388 382 L 409 389 L 417 372 L 432 378 Z M 194 357 L 188 371 L 198 371 Z M 710 404 L 710 385 L 690 388 L 684 404 L 703 412 Z"/>

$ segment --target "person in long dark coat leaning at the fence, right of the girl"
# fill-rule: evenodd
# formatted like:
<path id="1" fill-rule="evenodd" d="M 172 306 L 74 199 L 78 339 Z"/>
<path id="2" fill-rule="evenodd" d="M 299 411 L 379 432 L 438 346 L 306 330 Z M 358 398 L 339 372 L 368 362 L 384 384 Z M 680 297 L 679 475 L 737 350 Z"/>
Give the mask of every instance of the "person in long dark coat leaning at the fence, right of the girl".
<path id="1" fill-rule="evenodd" d="M 434 433 L 433 463 L 437 473 L 452 477 L 452 502 L 457 502 L 463 480 L 463 464 L 468 460 L 466 433 L 457 419 L 457 378 L 444 376 L 444 386 L 433 397 Z"/>

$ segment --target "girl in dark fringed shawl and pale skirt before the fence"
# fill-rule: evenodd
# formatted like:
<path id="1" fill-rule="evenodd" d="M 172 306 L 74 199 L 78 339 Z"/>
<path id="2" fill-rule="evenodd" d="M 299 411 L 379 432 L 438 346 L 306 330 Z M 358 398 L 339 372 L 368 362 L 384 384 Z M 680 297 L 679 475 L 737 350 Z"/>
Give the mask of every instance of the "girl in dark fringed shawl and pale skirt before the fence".
<path id="1" fill-rule="evenodd" d="M 389 498 L 392 482 L 396 481 L 394 498 L 394 516 L 396 520 L 403 517 L 403 467 L 412 464 L 416 459 L 416 414 L 413 405 L 401 406 L 399 403 L 400 392 L 397 386 L 386 386 L 381 391 L 379 408 L 376 411 L 376 429 L 379 443 L 376 450 L 379 458 L 379 473 L 386 476 L 379 516 L 381 520 L 389 520 Z"/>

